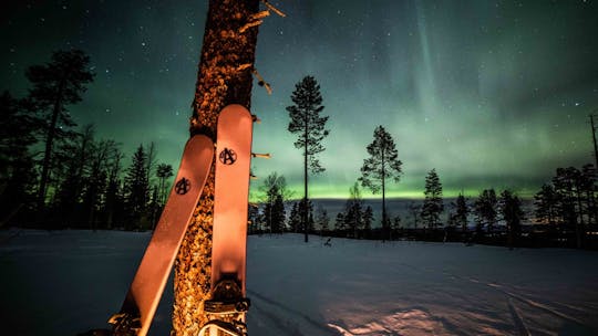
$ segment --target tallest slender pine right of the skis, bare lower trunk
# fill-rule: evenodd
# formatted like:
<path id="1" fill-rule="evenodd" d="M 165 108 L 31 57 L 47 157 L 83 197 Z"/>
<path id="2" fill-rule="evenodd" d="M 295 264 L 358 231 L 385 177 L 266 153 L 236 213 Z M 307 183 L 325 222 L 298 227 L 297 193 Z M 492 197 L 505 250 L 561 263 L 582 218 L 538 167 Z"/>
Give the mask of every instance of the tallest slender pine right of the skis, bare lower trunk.
<path id="1" fill-rule="evenodd" d="M 320 85 L 312 76 L 306 76 L 295 85 L 291 99 L 295 105 L 287 106 L 290 117 L 288 129 L 290 133 L 297 134 L 295 147 L 303 149 L 303 201 L 307 202 L 308 174 L 324 171 L 316 155 L 326 149 L 322 146 L 322 139 L 329 134 L 329 130 L 324 128 L 328 116 L 320 116 L 324 106 L 322 105 Z M 308 218 L 303 217 L 303 222 L 307 221 Z M 308 225 L 303 227 L 306 229 L 305 241 L 308 242 Z"/>

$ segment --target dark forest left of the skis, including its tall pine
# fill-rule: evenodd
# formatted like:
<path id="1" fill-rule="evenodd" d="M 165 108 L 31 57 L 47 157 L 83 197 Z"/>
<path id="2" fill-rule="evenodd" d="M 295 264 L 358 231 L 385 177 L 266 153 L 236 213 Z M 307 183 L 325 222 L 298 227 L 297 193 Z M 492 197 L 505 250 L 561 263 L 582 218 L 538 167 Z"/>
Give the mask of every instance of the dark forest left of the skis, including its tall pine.
<path id="1" fill-rule="evenodd" d="M 173 168 L 156 161 L 154 144 L 126 159 L 68 111 L 93 82 L 89 62 L 79 50 L 55 52 L 27 70 L 25 97 L 2 93 L 0 227 L 145 230 L 159 217 Z"/>

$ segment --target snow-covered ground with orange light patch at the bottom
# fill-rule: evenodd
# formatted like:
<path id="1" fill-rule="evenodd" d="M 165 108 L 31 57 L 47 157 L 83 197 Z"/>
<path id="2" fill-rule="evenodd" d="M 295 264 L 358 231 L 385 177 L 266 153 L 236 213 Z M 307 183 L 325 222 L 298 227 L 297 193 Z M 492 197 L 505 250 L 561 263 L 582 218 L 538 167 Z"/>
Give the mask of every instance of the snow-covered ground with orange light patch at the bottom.
<path id="1" fill-rule="evenodd" d="M 150 233 L 0 231 L 2 335 L 106 327 Z M 249 335 L 598 335 L 598 253 L 250 237 Z M 168 335 L 172 284 L 151 335 Z"/>

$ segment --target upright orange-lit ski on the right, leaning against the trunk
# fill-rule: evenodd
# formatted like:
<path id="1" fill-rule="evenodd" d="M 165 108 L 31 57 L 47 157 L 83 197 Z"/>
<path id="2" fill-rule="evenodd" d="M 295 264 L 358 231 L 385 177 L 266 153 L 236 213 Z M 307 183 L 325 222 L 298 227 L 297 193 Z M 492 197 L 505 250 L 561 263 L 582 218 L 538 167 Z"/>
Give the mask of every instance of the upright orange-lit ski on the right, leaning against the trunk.
<path id="1" fill-rule="evenodd" d="M 252 123 L 254 117 L 241 105 L 228 105 L 218 116 L 212 298 L 204 303 L 209 322 L 199 336 L 247 334 L 245 270 Z"/>

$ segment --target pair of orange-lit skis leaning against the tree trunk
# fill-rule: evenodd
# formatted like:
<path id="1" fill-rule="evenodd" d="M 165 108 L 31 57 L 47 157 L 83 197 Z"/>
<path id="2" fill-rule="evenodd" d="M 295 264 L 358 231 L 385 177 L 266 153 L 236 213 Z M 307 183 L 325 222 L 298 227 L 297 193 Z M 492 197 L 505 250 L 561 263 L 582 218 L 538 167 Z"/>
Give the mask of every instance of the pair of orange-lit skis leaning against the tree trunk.
<path id="1" fill-rule="evenodd" d="M 252 122 L 244 106 L 229 105 L 218 116 L 216 154 L 205 135 L 195 135 L 185 145 L 175 185 L 152 240 L 121 312 L 110 319 L 114 335 L 147 334 L 213 159 L 212 300 L 204 304 L 209 322 L 199 336 L 247 334 L 245 267 Z"/>

